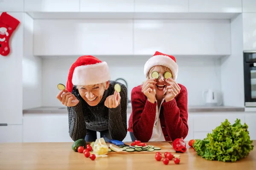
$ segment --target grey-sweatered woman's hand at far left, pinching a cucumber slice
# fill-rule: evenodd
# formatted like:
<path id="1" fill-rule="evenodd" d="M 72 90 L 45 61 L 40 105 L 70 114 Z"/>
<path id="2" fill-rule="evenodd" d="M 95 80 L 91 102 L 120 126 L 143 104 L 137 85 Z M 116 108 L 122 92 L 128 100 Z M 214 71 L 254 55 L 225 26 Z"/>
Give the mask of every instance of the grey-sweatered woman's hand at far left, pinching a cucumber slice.
<path id="1" fill-rule="evenodd" d="M 67 91 L 67 89 L 60 91 L 56 98 L 62 103 L 62 105 L 68 107 L 76 106 L 79 103 L 79 100 L 76 98 L 76 96 Z"/>

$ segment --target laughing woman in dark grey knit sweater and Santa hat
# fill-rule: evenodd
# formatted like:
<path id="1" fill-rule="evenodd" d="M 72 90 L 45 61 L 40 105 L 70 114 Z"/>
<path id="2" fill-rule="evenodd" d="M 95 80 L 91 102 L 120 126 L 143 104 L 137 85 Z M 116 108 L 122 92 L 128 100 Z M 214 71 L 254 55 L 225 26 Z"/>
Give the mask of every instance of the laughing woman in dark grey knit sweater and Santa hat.
<path id="1" fill-rule="evenodd" d="M 121 91 L 114 86 L 119 84 Z M 67 106 L 69 133 L 73 141 L 96 140 L 96 131 L 108 142 L 122 141 L 127 134 L 127 88 L 110 81 L 106 62 L 93 56 L 81 56 L 70 68 L 67 88 L 57 99 Z"/>

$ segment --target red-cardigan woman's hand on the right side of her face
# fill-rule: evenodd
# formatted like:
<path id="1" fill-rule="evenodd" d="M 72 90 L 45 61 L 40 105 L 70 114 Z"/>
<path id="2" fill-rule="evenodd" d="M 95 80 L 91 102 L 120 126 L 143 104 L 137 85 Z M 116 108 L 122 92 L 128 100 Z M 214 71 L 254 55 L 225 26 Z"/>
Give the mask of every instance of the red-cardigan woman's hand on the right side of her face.
<path id="1" fill-rule="evenodd" d="M 166 87 L 166 96 L 165 96 L 165 101 L 169 102 L 172 99 L 175 98 L 175 96 L 177 96 L 177 94 L 180 93 L 180 86 L 178 85 L 177 82 L 175 82 L 173 79 L 168 78 L 166 79 L 166 82 L 169 84 Z"/>

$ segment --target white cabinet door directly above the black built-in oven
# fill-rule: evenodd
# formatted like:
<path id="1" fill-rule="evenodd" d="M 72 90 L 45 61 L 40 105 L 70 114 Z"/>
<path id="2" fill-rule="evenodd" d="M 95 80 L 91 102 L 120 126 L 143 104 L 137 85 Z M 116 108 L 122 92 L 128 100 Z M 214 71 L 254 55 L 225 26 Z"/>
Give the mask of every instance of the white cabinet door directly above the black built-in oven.
<path id="1" fill-rule="evenodd" d="M 256 13 L 243 13 L 244 51 L 256 50 Z"/>

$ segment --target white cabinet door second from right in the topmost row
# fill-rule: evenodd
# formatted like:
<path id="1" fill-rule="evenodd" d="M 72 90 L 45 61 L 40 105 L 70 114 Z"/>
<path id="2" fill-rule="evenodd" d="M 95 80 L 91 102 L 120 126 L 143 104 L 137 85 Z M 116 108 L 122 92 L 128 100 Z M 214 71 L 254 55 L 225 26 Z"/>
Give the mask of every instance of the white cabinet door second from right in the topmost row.
<path id="1" fill-rule="evenodd" d="M 189 12 L 242 12 L 241 0 L 189 0 Z"/>

